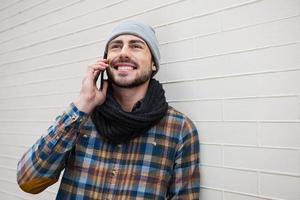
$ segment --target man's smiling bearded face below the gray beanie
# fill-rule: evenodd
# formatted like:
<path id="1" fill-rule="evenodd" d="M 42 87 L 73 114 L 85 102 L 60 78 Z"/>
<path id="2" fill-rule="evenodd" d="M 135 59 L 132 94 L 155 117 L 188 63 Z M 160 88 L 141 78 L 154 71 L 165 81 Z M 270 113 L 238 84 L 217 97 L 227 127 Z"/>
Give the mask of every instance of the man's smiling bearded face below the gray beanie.
<path id="1" fill-rule="evenodd" d="M 121 35 L 115 38 L 108 45 L 108 51 L 112 66 L 108 69 L 108 75 L 119 87 L 134 88 L 144 84 L 150 80 L 152 71 L 156 71 L 150 49 L 137 36 Z M 134 54 L 130 55 L 130 52 Z M 112 75 L 114 72 L 115 76 Z"/>

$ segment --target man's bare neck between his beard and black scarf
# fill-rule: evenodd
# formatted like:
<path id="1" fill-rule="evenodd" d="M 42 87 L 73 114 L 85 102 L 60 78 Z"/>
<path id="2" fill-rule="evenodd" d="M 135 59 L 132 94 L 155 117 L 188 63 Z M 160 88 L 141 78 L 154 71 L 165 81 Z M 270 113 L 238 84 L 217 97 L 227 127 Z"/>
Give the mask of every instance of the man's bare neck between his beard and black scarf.
<path id="1" fill-rule="evenodd" d="M 134 88 L 121 88 L 113 85 L 114 97 L 119 102 L 124 111 L 131 112 L 136 102 L 145 97 L 148 85 L 149 81 Z"/>

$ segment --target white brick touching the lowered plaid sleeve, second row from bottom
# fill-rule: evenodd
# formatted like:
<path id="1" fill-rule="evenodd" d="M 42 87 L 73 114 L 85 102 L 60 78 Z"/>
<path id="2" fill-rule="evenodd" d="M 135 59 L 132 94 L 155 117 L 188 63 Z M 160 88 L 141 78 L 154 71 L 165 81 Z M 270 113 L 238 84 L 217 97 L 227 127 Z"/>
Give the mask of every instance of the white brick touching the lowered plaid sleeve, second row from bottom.
<path id="1" fill-rule="evenodd" d="M 201 184 L 203 186 L 251 194 L 257 194 L 258 192 L 258 176 L 254 172 L 202 166 L 201 174 Z"/>

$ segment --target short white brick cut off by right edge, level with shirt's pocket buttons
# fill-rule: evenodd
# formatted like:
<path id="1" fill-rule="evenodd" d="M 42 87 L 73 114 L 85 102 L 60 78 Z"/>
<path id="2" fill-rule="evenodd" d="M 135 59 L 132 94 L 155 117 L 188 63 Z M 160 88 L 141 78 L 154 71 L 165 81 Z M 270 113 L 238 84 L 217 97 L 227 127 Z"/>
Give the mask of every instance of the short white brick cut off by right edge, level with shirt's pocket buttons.
<path id="1" fill-rule="evenodd" d="M 260 123 L 260 144 L 300 148 L 300 123 Z"/>

